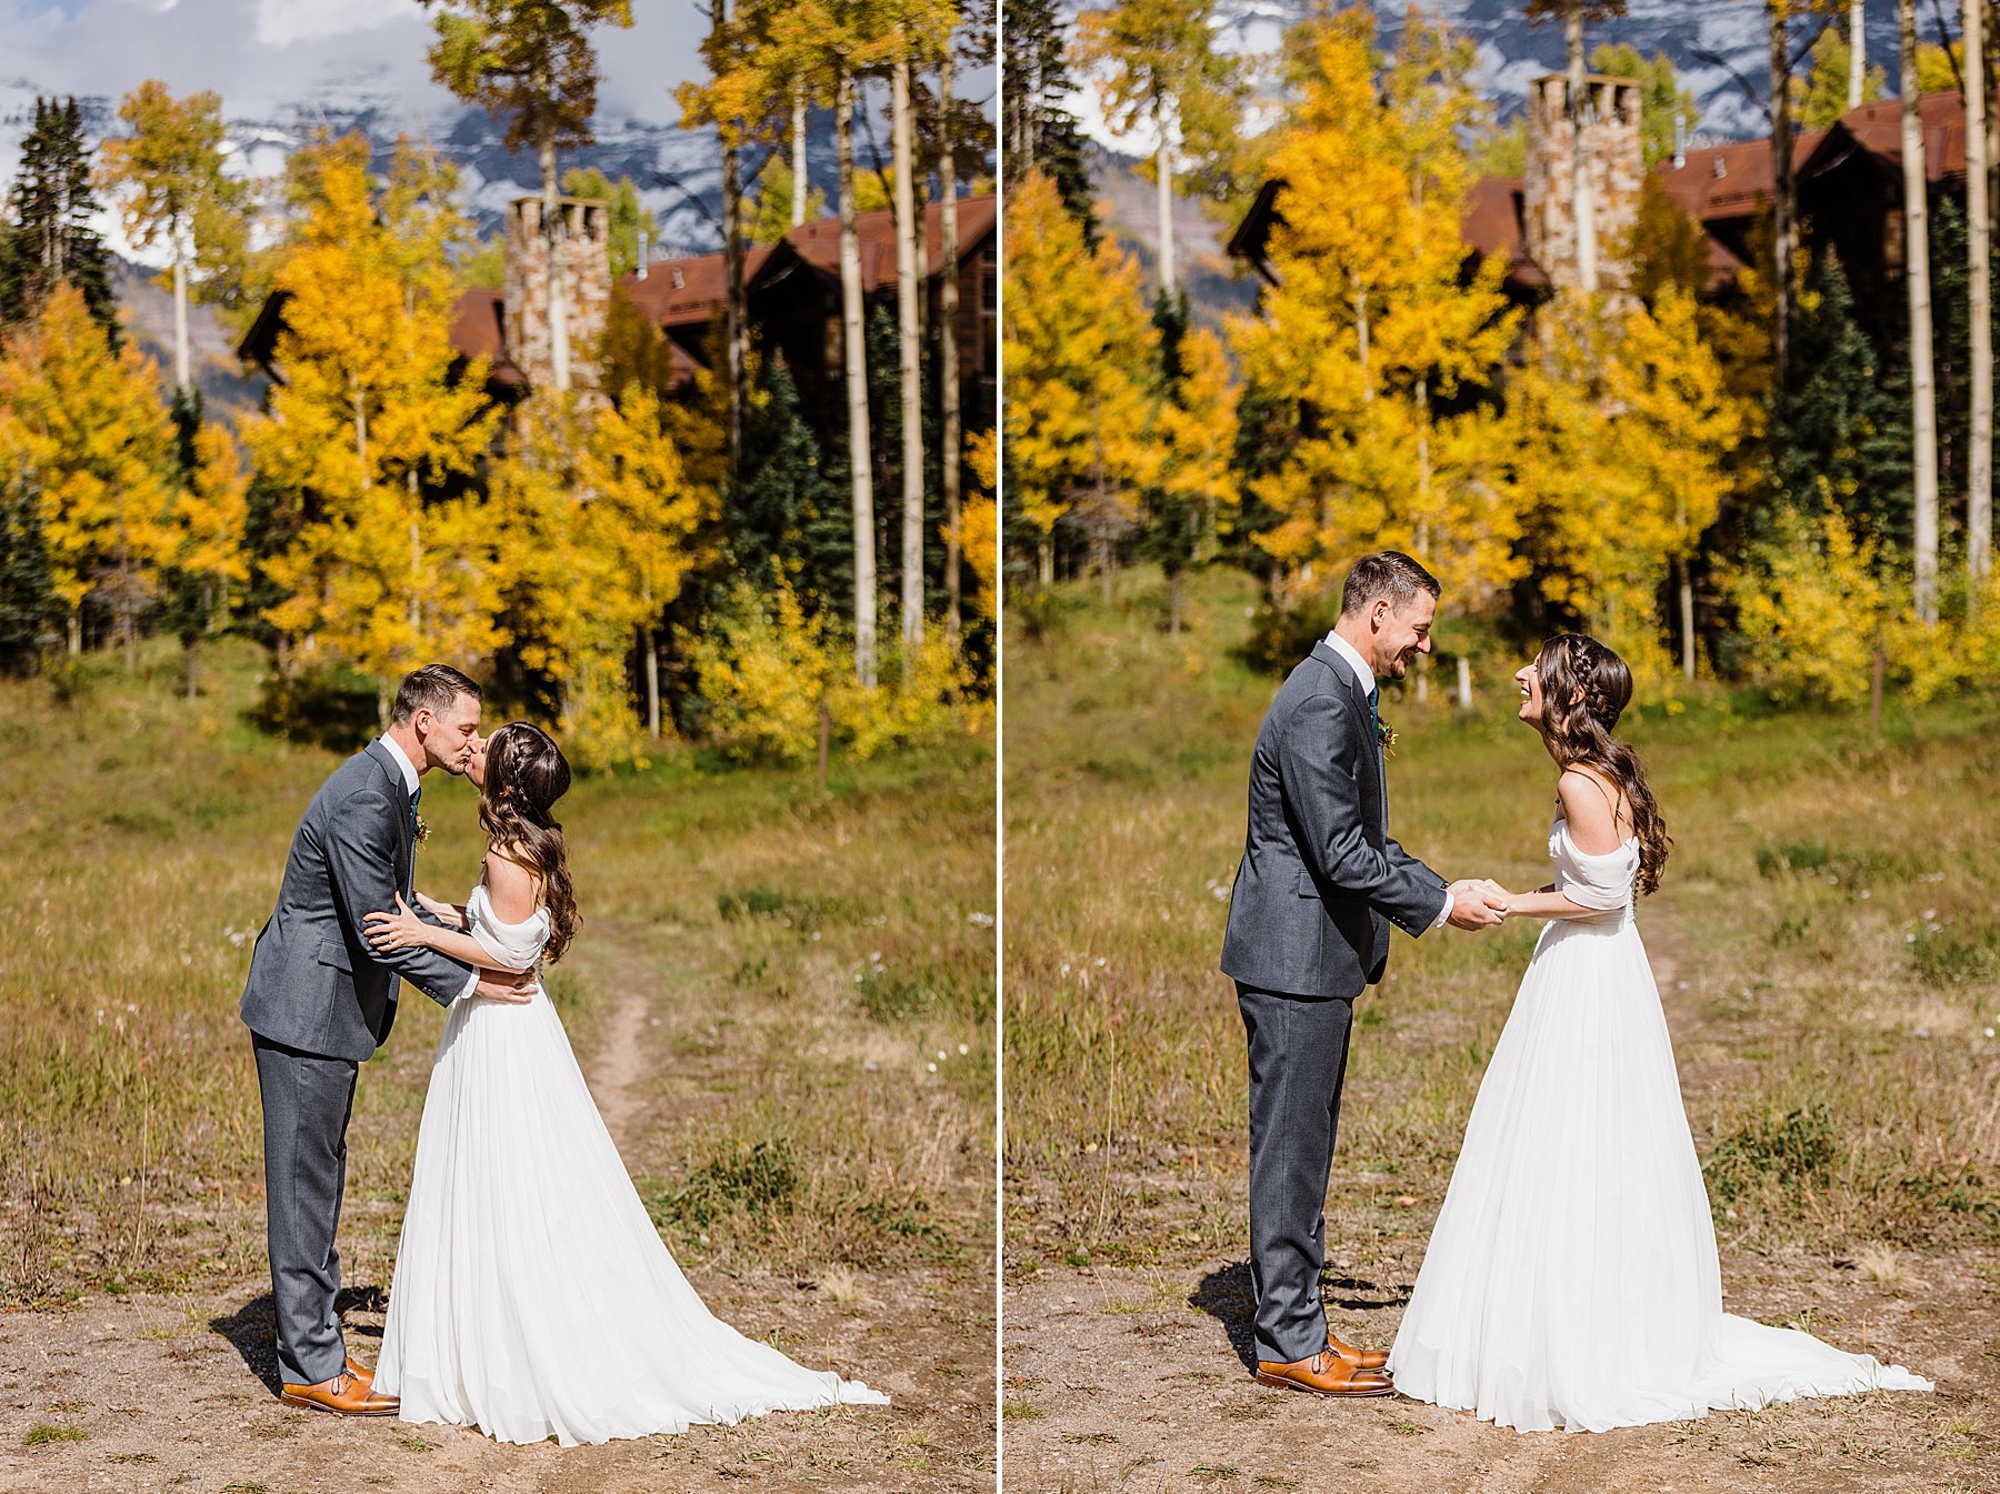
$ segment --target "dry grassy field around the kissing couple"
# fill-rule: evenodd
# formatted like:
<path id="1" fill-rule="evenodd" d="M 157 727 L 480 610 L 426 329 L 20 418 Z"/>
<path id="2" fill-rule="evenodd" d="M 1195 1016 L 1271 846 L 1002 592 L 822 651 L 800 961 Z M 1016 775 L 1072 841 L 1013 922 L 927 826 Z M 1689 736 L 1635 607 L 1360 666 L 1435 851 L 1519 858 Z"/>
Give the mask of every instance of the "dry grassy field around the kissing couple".
<path id="1" fill-rule="evenodd" d="M 138 678 L 0 684 L 0 1304 L 198 1290 L 262 1270 L 260 1110 L 236 1000 L 300 810 L 340 756 L 246 724 L 262 656 L 178 698 Z M 488 722 L 488 728 L 494 722 Z M 462 896 L 470 784 L 424 802 L 418 886 Z M 694 1270 L 992 1264 L 992 744 L 810 772 L 688 754 L 560 808 L 584 924 L 552 990 L 634 1068 L 626 1160 Z M 646 1006 L 620 1006 L 644 994 Z M 630 1030 L 612 1032 L 616 1020 Z M 386 1286 L 442 1012 L 364 1066 L 348 1280 Z"/>

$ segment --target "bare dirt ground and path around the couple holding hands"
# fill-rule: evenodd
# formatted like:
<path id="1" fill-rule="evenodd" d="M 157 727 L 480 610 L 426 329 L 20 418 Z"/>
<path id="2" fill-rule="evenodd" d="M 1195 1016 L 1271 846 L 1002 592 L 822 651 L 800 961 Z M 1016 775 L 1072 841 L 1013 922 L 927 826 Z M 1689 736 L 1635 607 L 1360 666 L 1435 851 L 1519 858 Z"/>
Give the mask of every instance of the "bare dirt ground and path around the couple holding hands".
<path id="1" fill-rule="evenodd" d="M 1680 942 L 1654 938 L 1676 1034 L 1700 1026 L 1678 982 Z M 1376 1266 L 1330 1280 L 1334 1332 L 1388 1346 L 1434 1210 L 1382 1238 Z M 1374 1494 L 1944 1494 L 2000 1490 L 2000 1280 L 1974 1252 L 1932 1256 L 1882 1286 L 1822 1258 L 1724 1256 L 1732 1310 L 1810 1312 L 1842 1346 L 1892 1342 L 1934 1396 L 1808 1400 L 1758 1414 L 1602 1436 L 1498 1430 L 1386 1398 L 1328 1402 L 1250 1380 L 1250 1270 L 1050 1268 L 1006 1288 L 1008 1488 L 1048 1494 L 1320 1490 Z"/>

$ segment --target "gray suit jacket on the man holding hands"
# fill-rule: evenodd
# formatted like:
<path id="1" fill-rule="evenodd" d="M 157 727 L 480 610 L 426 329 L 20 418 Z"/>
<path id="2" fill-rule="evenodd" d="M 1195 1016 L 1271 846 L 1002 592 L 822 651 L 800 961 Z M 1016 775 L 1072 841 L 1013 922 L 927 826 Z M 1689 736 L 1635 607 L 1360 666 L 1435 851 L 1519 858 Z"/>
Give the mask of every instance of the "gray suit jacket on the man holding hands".
<path id="1" fill-rule="evenodd" d="M 1292 996 L 1360 996 L 1444 908 L 1444 878 L 1388 838 L 1368 694 L 1324 642 L 1286 678 L 1250 760 L 1250 830 L 1222 970 Z"/>

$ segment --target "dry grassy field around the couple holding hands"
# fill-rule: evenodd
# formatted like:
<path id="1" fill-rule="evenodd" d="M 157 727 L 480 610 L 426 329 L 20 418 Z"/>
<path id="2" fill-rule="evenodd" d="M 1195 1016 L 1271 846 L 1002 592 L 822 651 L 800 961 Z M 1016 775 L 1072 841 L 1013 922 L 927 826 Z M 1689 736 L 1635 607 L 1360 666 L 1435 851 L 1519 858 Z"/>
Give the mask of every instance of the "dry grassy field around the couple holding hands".
<path id="1" fill-rule="evenodd" d="M 1178 1302 L 1184 1318 L 1224 1316 L 1216 1294 L 1246 1294 L 1230 1266 L 1246 1250 L 1244 1038 L 1216 958 L 1250 746 L 1278 680 L 1236 654 L 1254 584 L 1210 574 L 1192 594 L 1194 624 L 1178 640 L 1144 572 L 1120 578 L 1110 608 L 1094 588 L 1064 588 L 1032 632 L 1010 618 L 1010 1376 L 1016 1326 L 1028 1324 L 1016 1302 L 1030 1318 L 1040 1304 L 1086 1312 L 1094 1298 L 1128 1314 Z M 1448 622 L 1440 646 L 1452 646 Z M 1492 660 L 1478 672 L 1466 718 L 1398 690 L 1382 710 L 1402 732 L 1390 766 L 1398 838 L 1446 876 L 1524 888 L 1546 880 L 1554 770 L 1512 718 L 1514 668 Z M 1774 1262 L 1846 1272 L 1920 1318 L 1994 1306 L 1996 724 L 1996 702 L 1890 702 L 1874 744 L 1866 720 L 1772 714 L 1722 692 L 1628 722 L 1676 840 L 1640 928 L 1666 972 L 1736 1310 L 1758 1310 L 1740 1306 L 1736 1286 Z M 1414 1280 L 1538 928 L 1398 936 L 1388 982 L 1358 1004 L 1330 1302 L 1392 1306 Z M 1926 1302 L 1932 1268 L 1948 1260 L 1968 1286 L 1946 1296 L 1940 1278 Z M 1786 1316 L 1764 1306 L 1760 1316 Z M 1162 1324 L 1176 1328 L 1172 1314 Z M 1386 1346 L 1392 1324 L 1362 1332 Z M 1982 1374 L 1994 1368 L 1988 1356 Z M 1052 1488 L 1094 1486 L 1054 1472 L 1074 1448 L 1038 1432 L 1056 1414 L 1048 1388 L 1030 1376 L 1010 1380 L 1010 1394 L 1008 1466 L 1020 1432 L 1024 1462 L 1054 1458 Z M 1984 1418 L 1940 1432 L 1938 1446 L 1978 1462 L 1994 1448 L 1990 1422 L 1984 1404 Z M 1962 1460 L 1940 1466 L 1956 1476 Z"/>

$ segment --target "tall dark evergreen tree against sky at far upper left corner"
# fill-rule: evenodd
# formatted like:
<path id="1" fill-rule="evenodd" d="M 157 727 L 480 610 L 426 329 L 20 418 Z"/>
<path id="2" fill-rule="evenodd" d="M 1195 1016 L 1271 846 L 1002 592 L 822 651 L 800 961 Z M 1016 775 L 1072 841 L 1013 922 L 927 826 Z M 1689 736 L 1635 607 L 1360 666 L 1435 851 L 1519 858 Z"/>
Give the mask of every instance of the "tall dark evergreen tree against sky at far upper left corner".
<path id="1" fill-rule="evenodd" d="M 90 148 L 70 98 L 34 100 L 34 128 L 20 146 L 20 170 L 8 192 L 6 244 L 0 248 L 0 322 L 26 322 L 48 292 L 68 280 L 84 294 L 90 318 L 118 348 L 118 300 L 110 250 L 90 228 L 98 202 L 90 192 Z"/>

